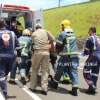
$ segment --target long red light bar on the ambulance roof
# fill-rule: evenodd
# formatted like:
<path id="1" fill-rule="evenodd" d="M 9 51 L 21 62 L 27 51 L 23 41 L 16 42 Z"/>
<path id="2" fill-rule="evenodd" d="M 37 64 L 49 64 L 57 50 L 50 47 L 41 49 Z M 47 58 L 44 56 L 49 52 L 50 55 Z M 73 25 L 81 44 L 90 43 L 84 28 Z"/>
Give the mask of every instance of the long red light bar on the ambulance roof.
<path id="1" fill-rule="evenodd" d="M 21 11 L 29 10 L 29 7 L 16 6 L 16 5 L 4 5 L 3 8 L 6 10 L 21 10 Z"/>

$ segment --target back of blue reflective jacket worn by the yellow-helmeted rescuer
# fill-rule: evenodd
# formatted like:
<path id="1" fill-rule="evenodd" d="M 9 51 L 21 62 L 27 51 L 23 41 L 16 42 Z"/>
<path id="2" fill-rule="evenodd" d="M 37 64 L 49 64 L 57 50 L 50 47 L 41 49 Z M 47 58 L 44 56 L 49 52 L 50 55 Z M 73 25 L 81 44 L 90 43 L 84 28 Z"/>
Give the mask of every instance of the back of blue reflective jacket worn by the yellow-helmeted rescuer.
<path id="1" fill-rule="evenodd" d="M 73 32 L 67 32 L 64 40 L 63 40 L 63 51 L 67 54 L 77 54 L 78 46 L 76 41 L 76 36 Z"/>

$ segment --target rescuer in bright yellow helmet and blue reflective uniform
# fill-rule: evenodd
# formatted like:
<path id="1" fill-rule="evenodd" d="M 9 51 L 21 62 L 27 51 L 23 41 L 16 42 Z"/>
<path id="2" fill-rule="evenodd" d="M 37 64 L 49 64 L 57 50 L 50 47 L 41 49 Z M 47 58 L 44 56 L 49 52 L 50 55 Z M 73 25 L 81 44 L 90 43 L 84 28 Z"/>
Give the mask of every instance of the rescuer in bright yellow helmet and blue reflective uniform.
<path id="1" fill-rule="evenodd" d="M 58 36 L 56 49 L 61 55 L 58 61 L 58 67 L 54 79 L 50 82 L 52 88 L 58 87 L 63 72 L 65 71 L 72 81 L 72 95 L 77 96 L 78 89 L 78 73 L 77 67 L 79 59 L 77 56 L 77 44 L 76 37 L 73 29 L 70 27 L 71 22 L 69 20 L 63 20 L 61 22 L 61 33 Z"/>

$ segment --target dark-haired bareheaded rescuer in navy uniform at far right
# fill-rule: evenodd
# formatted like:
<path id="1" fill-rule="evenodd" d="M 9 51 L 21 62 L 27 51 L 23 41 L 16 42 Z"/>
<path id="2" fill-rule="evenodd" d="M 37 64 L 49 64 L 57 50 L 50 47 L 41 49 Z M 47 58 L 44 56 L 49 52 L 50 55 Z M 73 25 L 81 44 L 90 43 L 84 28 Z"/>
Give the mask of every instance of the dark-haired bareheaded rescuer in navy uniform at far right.
<path id="1" fill-rule="evenodd" d="M 83 69 L 83 75 L 89 85 L 86 93 L 95 94 L 100 69 L 100 38 L 96 36 L 95 27 L 90 27 L 88 34 L 84 54 L 89 56 Z"/>

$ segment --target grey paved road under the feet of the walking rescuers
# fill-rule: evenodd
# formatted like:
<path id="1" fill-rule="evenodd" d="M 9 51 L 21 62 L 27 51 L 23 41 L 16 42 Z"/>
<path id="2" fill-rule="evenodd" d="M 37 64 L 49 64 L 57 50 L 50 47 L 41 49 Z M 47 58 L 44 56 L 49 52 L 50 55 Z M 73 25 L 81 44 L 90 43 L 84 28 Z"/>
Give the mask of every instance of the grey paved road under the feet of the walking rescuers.
<path id="1" fill-rule="evenodd" d="M 100 98 L 100 79 L 98 80 L 98 87 L 97 87 L 98 93 L 96 95 L 87 95 L 84 93 L 84 89 L 87 89 L 88 86 L 83 79 L 82 66 L 80 66 L 80 69 L 79 69 L 79 81 L 80 81 L 79 91 L 78 91 L 79 95 L 77 97 L 74 97 L 68 93 L 68 91 L 71 90 L 71 85 L 59 84 L 58 90 L 49 90 L 48 95 L 44 96 L 42 94 L 32 93 L 28 89 L 29 83 L 27 83 L 26 86 L 22 87 L 20 82 L 16 80 L 18 85 L 8 84 L 8 92 L 10 96 L 8 100 L 85 100 L 85 99 L 99 100 Z"/>

